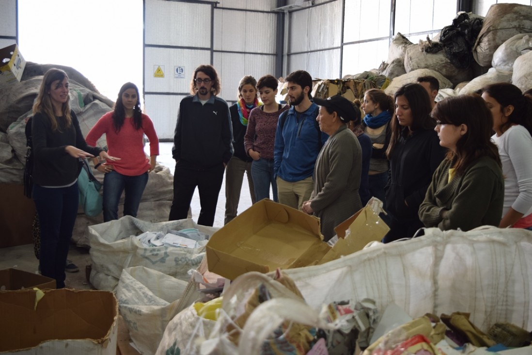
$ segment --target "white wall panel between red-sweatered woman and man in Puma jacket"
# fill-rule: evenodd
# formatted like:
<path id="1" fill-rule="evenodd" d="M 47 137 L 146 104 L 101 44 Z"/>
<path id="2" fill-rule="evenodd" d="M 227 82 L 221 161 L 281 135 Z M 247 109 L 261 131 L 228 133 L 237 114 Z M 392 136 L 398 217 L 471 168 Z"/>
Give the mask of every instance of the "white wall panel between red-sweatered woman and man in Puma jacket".
<path id="1" fill-rule="evenodd" d="M 153 121 L 159 139 L 173 139 L 179 103 L 185 96 L 145 95 L 144 111 Z"/>

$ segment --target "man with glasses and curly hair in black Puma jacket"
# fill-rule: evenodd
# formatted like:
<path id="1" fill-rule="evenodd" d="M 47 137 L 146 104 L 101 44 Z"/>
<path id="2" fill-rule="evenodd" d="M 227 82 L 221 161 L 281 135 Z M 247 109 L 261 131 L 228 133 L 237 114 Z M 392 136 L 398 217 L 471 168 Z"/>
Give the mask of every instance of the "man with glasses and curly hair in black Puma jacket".
<path id="1" fill-rule="evenodd" d="M 220 80 L 212 65 L 200 65 L 190 81 L 190 93 L 179 104 L 172 156 L 173 201 L 169 220 L 187 218 L 196 186 L 201 212 L 197 223 L 214 224 L 223 172 L 233 154 L 229 107 L 219 98 Z"/>

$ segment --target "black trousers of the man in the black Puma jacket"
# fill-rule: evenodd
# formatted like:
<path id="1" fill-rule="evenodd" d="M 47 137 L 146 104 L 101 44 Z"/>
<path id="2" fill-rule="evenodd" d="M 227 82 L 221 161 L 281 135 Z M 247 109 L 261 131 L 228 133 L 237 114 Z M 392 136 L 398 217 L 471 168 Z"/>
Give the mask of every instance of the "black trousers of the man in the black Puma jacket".
<path id="1" fill-rule="evenodd" d="M 187 218 L 190 201 L 197 186 L 201 204 L 197 223 L 212 227 L 224 170 L 223 163 L 212 168 L 197 169 L 178 162 L 173 174 L 173 201 L 168 219 L 172 221 Z"/>

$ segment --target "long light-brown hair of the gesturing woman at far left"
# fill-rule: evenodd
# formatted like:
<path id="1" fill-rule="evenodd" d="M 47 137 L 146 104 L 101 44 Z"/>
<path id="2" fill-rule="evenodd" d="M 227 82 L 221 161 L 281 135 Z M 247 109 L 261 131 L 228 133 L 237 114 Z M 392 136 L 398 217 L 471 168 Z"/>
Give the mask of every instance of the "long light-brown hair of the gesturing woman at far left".
<path id="1" fill-rule="evenodd" d="M 61 70 L 52 68 L 49 69 L 43 77 L 43 81 L 40 84 L 39 87 L 39 94 L 37 95 L 37 100 L 35 101 L 35 104 L 33 106 L 33 113 L 43 113 L 45 114 L 48 119 L 50 120 L 50 123 L 52 125 L 52 130 L 58 130 L 61 131 L 59 126 L 57 125 L 57 119 L 55 118 L 54 113 L 54 107 L 52 105 L 52 99 L 49 95 L 49 90 L 52 87 L 52 83 L 54 81 L 60 81 L 62 82 L 64 79 L 68 80 L 68 75 Z M 66 127 L 70 127 L 72 123 L 72 117 L 70 115 L 70 100 L 66 100 L 65 103 L 63 103 L 62 108 L 62 115 L 66 120 Z"/>

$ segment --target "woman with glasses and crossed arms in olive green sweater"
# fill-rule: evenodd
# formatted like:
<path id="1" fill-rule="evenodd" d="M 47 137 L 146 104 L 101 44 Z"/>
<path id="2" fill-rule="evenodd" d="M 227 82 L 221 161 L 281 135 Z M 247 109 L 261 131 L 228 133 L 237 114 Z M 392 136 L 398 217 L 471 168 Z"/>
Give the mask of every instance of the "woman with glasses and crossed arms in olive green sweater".
<path id="1" fill-rule="evenodd" d="M 479 95 L 448 97 L 432 113 L 439 144 L 449 149 L 434 172 L 419 218 L 425 227 L 470 230 L 498 226 L 504 180 L 490 140 L 492 115 Z"/>

